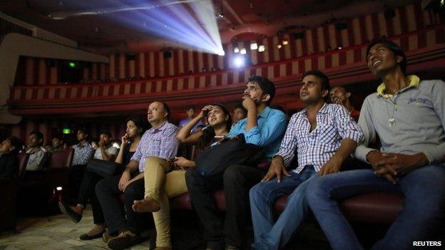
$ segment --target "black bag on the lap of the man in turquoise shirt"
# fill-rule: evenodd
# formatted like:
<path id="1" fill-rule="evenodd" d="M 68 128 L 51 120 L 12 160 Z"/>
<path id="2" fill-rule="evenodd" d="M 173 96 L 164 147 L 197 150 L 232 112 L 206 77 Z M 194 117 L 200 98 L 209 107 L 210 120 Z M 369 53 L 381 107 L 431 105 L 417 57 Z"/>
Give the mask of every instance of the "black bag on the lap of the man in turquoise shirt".
<path id="1" fill-rule="evenodd" d="M 246 143 L 244 134 L 210 147 L 198 155 L 195 165 L 202 176 L 223 175 L 230 165 L 255 166 L 264 160 L 265 150 L 252 143 Z"/>

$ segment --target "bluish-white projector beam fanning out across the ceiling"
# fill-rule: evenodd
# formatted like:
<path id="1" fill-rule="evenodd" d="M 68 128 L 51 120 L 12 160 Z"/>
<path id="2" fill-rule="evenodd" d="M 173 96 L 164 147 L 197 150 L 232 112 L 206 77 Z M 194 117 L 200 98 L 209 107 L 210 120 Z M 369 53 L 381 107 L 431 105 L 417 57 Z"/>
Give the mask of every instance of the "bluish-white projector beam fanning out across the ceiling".
<path id="1" fill-rule="evenodd" d="M 113 7 L 109 7 L 111 2 Z M 53 19 L 63 19 L 69 16 L 101 14 L 113 23 L 180 43 L 185 48 L 191 47 L 220 56 L 225 54 L 212 0 L 134 0 L 131 5 L 120 0 L 108 1 L 107 4 L 107 8 L 98 9 L 83 3 L 83 6 L 79 6 L 83 11 L 54 12 L 50 15 Z"/>

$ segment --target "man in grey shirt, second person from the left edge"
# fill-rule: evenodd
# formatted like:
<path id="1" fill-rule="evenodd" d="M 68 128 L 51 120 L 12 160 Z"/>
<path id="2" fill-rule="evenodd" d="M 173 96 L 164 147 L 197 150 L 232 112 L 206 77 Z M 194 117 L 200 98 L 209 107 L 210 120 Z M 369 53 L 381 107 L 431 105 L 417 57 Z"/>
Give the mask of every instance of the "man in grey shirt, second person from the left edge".
<path id="1" fill-rule="evenodd" d="M 34 130 L 29 135 L 28 150 L 26 154 L 29 154 L 28 164 L 26 164 L 26 171 L 41 170 L 45 165 L 45 150 L 42 147 L 44 143 L 44 135 Z"/>

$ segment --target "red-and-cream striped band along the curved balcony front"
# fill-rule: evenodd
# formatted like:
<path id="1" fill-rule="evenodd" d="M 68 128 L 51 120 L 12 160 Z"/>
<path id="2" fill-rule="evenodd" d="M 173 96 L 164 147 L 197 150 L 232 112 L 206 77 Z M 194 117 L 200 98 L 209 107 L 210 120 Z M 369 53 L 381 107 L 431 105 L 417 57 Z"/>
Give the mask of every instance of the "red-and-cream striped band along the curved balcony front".
<path id="1" fill-rule="evenodd" d="M 444 46 L 445 26 L 433 26 L 403 36 L 395 36 L 392 40 L 398 43 L 407 53 L 423 53 L 425 48 L 436 49 Z M 220 85 L 244 83 L 250 75 L 263 75 L 275 81 L 280 78 L 298 78 L 301 73 L 313 69 L 335 71 L 336 68 L 354 68 L 363 66 L 366 44 L 329 51 L 313 56 L 267 63 L 262 66 L 200 73 L 181 77 L 156 78 L 153 80 L 134 80 L 121 83 L 95 83 L 54 86 L 16 86 L 12 88 L 10 101 L 76 101 L 80 99 L 114 99 L 146 96 L 150 93 L 165 93 L 177 90 L 205 89 Z"/>

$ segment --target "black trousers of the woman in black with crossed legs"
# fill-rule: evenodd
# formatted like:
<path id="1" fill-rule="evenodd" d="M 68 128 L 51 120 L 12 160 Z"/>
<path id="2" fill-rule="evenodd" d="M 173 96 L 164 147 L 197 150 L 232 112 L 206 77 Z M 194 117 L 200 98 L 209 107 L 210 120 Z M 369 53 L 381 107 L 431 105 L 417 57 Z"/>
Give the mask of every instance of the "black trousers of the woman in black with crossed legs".
<path id="1" fill-rule="evenodd" d="M 95 191 L 96 184 L 101 179 L 103 179 L 103 177 L 101 177 L 100 175 L 85 169 L 83 172 L 81 188 L 79 189 L 77 198 L 78 204 L 82 204 L 83 207 L 86 207 L 88 199 L 90 200 L 91 209 L 93 210 L 94 224 L 103 224 L 105 222 L 105 219 L 103 218 L 102 207 L 98 201 Z"/>

